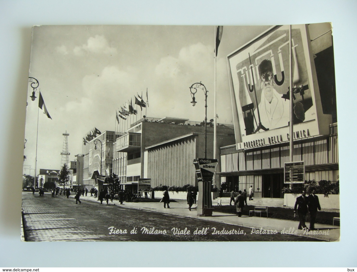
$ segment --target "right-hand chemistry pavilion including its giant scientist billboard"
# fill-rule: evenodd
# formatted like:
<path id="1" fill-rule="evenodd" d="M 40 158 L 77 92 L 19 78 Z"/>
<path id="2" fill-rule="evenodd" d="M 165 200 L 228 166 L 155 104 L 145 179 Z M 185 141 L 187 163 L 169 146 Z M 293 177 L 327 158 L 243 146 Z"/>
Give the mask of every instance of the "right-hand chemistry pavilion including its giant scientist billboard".
<path id="1" fill-rule="evenodd" d="M 295 47 L 292 50 L 295 85 L 292 136 L 288 122 L 273 126 L 273 118 L 281 118 L 280 121 L 283 117 L 282 114 L 274 117 L 273 111 L 279 104 L 275 109 L 268 107 L 264 89 L 265 84 L 273 82 L 277 101 L 281 99 L 284 103 L 283 99 L 289 97 L 285 48 L 288 27 L 272 27 L 227 57 L 236 144 L 221 148 L 219 174 L 230 189 L 248 191 L 252 186 L 256 197 L 283 197 L 282 188 L 289 186 L 284 184 L 284 164 L 290 161 L 290 137 L 293 138 L 293 161 L 305 163 L 305 180 L 339 180 L 335 71 L 329 27 L 331 30 L 329 24 L 292 27 L 292 46 Z M 269 64 L 267 68 L 260 65 L 263 59 L 268 60 L 264 61 Z M 249 61 L 253 65 L 249 66 Z M 252 82 L 255 82 L 254 88 Z M 254 92 L 260 101 L 253 96 Z M 297 113 L 298 107 L 303 111 Z M 262 123 L 265 112 L 272 119 Z M 259 123 L 265 127 L 259 129 Z"/>

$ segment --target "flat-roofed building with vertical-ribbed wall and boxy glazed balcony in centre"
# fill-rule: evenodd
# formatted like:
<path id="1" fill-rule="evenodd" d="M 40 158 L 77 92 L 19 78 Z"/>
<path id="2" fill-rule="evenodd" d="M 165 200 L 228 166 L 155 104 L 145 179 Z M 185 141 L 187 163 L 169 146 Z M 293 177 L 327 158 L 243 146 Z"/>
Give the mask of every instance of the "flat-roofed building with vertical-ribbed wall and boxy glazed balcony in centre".
<path id="1" fill-rule="evenodd" d="M 196 184 L 193 159 L 204 157 L 205 127 L 182 118 L 143 118 L 116 140 L 114 173 L 125 188 L 139 179 L 151 179 L 151 186 Z M 233 144 L 230 125 L 217 126 L 219 147 Z M 213 156 L 213 127 L 207 127 L 207 156 Z"/>

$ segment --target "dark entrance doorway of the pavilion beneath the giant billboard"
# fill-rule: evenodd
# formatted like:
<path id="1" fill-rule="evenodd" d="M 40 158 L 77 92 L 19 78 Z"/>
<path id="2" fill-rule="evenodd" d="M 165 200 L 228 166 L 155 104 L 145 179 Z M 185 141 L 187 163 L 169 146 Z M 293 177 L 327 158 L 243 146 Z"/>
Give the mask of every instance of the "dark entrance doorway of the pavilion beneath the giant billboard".
<path id="1" fill-rule="evenodd" d="M 281 189 L 284 185 L 283 174 L 262 175 L 263 197 L 282 198 Z"/>

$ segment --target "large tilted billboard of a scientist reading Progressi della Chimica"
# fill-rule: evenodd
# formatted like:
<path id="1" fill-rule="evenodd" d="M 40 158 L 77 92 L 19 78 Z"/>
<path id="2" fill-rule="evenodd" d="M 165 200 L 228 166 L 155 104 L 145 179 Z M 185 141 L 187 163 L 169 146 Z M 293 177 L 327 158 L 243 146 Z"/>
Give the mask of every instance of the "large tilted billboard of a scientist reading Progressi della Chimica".
<path id="1" fill-rule="evenodd" d="M 289 27 L 271 27 L 228 55 L 232 104 L 237 112 L 237 149 L 286 142 L 290 138 Z M 321 101 L 313 80 L 316 71 L 306 25 L 292 26 L 291 37 L 293 138 L 297 139 L 319 135 L 317 107 L 321 108 Z"/>

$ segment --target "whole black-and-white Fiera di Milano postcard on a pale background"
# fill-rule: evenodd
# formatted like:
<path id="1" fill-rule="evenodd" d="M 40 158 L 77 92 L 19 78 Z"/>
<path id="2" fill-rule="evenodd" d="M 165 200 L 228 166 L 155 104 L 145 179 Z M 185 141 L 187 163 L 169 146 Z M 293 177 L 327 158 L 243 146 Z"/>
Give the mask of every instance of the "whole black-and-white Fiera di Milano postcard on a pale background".
<path id="1" fill-rule="evenodd" d="M 340 241 L 332 26 L 32 27 L 21 240 Z"/>

